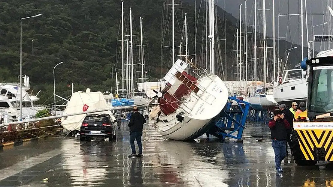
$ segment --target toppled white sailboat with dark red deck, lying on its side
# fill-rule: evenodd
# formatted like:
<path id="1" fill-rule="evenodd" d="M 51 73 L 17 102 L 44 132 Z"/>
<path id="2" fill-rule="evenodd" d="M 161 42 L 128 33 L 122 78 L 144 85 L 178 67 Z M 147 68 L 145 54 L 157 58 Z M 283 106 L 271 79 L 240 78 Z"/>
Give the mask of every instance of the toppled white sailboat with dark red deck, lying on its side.
<path id="1" fill-rule="evenodd" d="M 166 87 L 157 94 L 159 112 L 152 112 L 157 114 L 157 131 L 172 140 L 192 140 L 204 134 L 228 100 L 228 90 L 217 75 L 202 72 L 196 79 L 184 71 L 186 66 L 178 59 L 168 71 Z"/>

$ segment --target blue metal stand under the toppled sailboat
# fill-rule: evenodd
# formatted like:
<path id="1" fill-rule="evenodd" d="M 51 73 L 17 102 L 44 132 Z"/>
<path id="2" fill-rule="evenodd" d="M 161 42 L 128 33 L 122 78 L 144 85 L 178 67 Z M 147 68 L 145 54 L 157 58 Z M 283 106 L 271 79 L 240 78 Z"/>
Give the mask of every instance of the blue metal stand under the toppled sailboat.
<path id="1" fill-rule="evenodd" d="M 232 101 L 237 102 L 237 106 L 232 106 Z M 245 129 L 247 114 L 250 103 L 236 99 L 236 96 L 229 97 L 228 103 L 219 114 L 217 122 L 206 132 L 207 138 L 213 135 L 221 140 L 226 137 L 240 140 Z"/>

